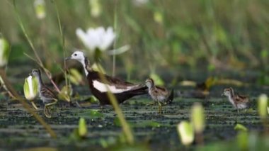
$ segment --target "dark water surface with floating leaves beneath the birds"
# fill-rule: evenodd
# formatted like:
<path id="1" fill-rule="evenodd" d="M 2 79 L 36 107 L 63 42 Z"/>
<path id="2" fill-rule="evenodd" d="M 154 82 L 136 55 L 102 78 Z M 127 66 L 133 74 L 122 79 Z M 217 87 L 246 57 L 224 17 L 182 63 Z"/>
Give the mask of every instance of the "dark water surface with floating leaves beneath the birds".
<path id="1" fill-rule="evenodd" d="M 20 74 L 19 72 L 15 73 L 15 75 Z M 25 76 L 27 77 L 26 74 Z M 256 74 L 253 77 L 255 76 Z M 200 77 L 199 74 L 190 74 L 190 76 L 183 74 L 178 79 L 196 78 L 198 82 L 201 82 L 206 77 L 207 74 L 203 77 Z M 234 77 L 238 77 L 238 75 L 236 74 Z M 11 77 L 11 79 L 15 82 L 23 81 L 23 78 L 16 79 L 16 76 Z M 251 76 L 242 80 L 250 79 L 252 79 Z M 200 102 L 205 108 L 205 144 L 234 139 L 237 133 L 234 130 L 236 123 L 246 126 L 249 130 L 262 132 L 263 126 L 256 110 L 256 101 L 259 94 L 268 94 L 268 87 L 255 84 L 241 87 L 234 86 L 236 91 L 247 94 L 251 99 L 251 109 L 240 111 L 238 114 L 235 108 L 229 104 L 227 98 L 220 96 L 222 90 L 227 86 L 231 85 L 212 86 L 210 95 L 206 99 L 195 99 L 191 96 L 188 98 L 179 96 L 179 91 L 188 94 L 188 91 L 194 90 L 193 87 L 177 85 L 174 87 L 176 93 L 173 104 L 164 106 L 161 115 L 158 114 L 158 106 L 147 106 L 151 102 L 147 95 L 130 99 L 124 104 L 120 104 L 120 107 L 128 123 L 132 126 L 137 142 L 147 144 L 151 150 L 184 149 L 178 138 L 176 125 L 183 120 L 189 120 L 190 108 L 195 102 Z M 74 90 L 83 98 L 89 96 L 88 86 L 76 86 Z M 40 101 L 37 104 L 42 108 Z M 0 105 L 1 149 L 59 147 L 66 150 L 75 150 L 95 147 L 96 150 L 102 150 L 104 140 L 111 144 L 117 142 L 122 134 L 122 129 L 117 122 L 112 106 L 101 108 L 98 104 L 89 105 L 90 103 L 87 101 L 79 101 L 79 104 L 81 104 L 81 108 L 60 102 L 54 107 L 50 119 L 43 116 L 42 109 L 37 111 L 57 133 L 57 139 L 52 139 L 44 128 L 35 121 L 35 118 L 25 111 L 21 104 L 2 99 Z M 93 111 L 98 111 L 98 115 L 93 115 Z M 74 140 L 71 139 L 70 135 L 77 128 L 80 117 L 86 118 L 88 135 L 84 140 Z"/>

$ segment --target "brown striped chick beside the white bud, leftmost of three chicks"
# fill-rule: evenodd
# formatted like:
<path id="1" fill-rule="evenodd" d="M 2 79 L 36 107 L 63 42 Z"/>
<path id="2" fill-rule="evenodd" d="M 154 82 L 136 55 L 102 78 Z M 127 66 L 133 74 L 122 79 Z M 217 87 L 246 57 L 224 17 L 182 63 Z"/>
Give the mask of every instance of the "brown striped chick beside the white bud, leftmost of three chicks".
<path id="1" fill-rule="evenodd" d="M 40 69 L 33 69 L 31 75 L 38 79 L 38 94 L 43 104 L 45 104 L 44 114 L 47 118 L 51 118 L 48 107 L 57 103 L 57 94 L 43 83 Z"/>

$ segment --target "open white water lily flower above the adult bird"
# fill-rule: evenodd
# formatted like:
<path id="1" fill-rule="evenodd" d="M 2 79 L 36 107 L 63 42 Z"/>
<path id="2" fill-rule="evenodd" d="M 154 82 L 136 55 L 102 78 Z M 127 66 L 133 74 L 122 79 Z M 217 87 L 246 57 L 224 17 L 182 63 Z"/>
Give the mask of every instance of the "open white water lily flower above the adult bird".
<path id="1" fill-rule="evenodd" d="M 88 28 L 86 32 L 78 28 L 76 29 L 76 35 L 91 51 L 95 51 L 96 49 L 101 51 L 107 50 L 116 37 L 112 27 L 108 27 L 107 30 L 103 27 Z"/>

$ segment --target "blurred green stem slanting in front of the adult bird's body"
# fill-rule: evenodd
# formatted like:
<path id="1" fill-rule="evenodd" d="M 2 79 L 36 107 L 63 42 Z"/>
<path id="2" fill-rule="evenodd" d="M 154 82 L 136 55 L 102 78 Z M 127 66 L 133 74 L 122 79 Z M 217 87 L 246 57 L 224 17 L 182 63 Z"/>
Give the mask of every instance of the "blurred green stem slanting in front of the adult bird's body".
<path id="1" fill-rule="evenodd" d="M 100 64 L 96 64 L 99 71 L 101 71 L 101 67 L 100 67 Z M 101 72 L 98 72 L 99 73 L 99 77 L 101 78 L 101 81 L 103 83 L 108 83 L 108 79 L 105 79 L 105 76 L 103 74 L 101 74 Z M 110 103 L 112 104 L 114 110 L 115 110 L 115 113 L 117 114 L 119 120 L 120 120 L 120 125 L 122 125 L 122 130 L 123 130 L 123 133 L 125 134 L 125 137 L 127 138 L 127 142 L 130 144 L 130 145 L 133 145 L 134 142 L 135 142 L 135 138 L 134 138 L 134 135 L 132 133 L 132 130 L 130 128 L 130 125 L 127 123 L 127 121 L 125 120 L 125 117 L 122 113 L 122 110 L 118 104 L 118 101 L 117 99 L 115 98 L 115 96 L 111 93 L 111 91 L 109 90 L 108 86 L 105 84 L 105 88 L 108 89 L 108 98 L 110 100 Z"/>

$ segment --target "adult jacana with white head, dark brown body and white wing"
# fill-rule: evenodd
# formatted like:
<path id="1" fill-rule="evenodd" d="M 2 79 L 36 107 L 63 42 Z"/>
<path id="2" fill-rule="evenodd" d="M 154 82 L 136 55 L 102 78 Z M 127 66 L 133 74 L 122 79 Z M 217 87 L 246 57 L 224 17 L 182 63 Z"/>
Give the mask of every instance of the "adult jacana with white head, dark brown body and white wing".
<path id="1" fill-rule="evenodd" d="M 101 105 L 110 104 L 108 91 L 114 94 L 119 104 L 133 96 L 147 94 L 147 86 L 144 84 L 132 84 L 130 82 L 125 82 L 106 74 L 102 74 L 101 72 L 94 71 L 91 69 L 90 62 L 87 57 L 85 57 L 84 52 L 75 51 L 71 57 L 66 58 L 66 60 L 69 59 L 81 62 L 88 79 L 91 94 L 96 96 Z M 105 77 L 106 82 L 101 80 L 101 76 Z"/>

